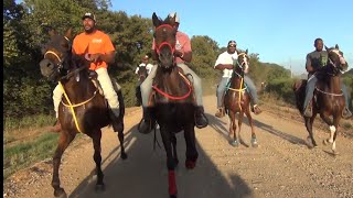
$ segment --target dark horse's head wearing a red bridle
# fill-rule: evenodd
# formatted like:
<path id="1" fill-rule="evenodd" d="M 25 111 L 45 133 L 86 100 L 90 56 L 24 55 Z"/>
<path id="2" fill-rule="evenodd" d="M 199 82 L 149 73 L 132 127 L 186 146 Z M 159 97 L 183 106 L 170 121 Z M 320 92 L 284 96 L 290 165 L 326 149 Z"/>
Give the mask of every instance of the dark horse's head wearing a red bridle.
<path id="1" fill-rule="evenodd" d="M 152 14 L 152 21 L 156 28 L 153 33 L 156 46 L 154 51 L 158 55 L 159 65 L 164 69 L 169 69 L 175 65 L 175 18 L 176 15 L 174 15 L 173 18 L 167 16 L 164 20 L 161 20 L 154 12 Z"/>

